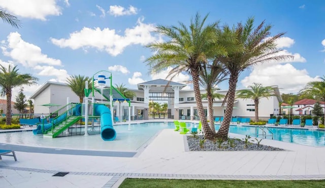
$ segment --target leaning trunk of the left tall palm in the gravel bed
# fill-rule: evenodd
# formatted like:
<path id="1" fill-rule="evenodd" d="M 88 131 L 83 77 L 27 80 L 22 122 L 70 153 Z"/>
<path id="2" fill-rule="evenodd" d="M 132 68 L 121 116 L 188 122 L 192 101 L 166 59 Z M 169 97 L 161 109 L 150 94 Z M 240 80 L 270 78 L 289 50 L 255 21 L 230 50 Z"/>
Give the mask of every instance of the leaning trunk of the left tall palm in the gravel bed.
<path id="1" fill-rule="evenodd" d="M 212 139 L 214 139 L 215 134 L 211 131 L 210 127 L 208 126 L 208 121 L 204 114 L 204 108 L 202 105 L 200 85 L 199 85 L 198 71 L 192 70 L 191 75 L 192 75 L 192 79 L 193 79 L 193 90 L 194 90 L 195 99 L 197 102 L 199 117 L 200 117 L 202 127 L 203 127 L 204 136 L 206 139 L 212 140 Z"/>

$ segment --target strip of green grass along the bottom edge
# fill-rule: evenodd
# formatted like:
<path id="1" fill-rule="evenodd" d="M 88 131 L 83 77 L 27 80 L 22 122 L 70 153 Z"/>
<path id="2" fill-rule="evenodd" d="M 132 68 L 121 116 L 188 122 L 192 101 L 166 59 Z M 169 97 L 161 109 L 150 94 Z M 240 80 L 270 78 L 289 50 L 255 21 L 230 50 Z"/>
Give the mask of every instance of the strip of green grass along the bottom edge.
<path id="1" fill-rule="evenodd" d="M 134 179 L 126 178 L 123 187 L 325 187 L 325 180 L 198 180 L 198 179 Z"/>

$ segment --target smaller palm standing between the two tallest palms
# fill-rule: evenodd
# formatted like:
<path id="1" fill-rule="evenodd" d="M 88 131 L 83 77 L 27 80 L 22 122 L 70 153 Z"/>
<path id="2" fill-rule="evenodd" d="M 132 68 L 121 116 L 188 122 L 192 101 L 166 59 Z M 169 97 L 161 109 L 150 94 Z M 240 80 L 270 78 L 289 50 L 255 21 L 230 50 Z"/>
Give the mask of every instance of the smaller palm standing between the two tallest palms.
<path id="1" fill-rule="evenodd" d="M 211 66 L 203 65 L 203 69 L 200 72 L 200 84 L 206 90 L 204 97 L 208 100 L 208 109 L 209 109 L 209 118 L 210 118 L 210 129 L 213 133 L 215 133 L 214 128 L 214 119 L 213 119 L 213 101 L 215 98 L 221 99 L 224 96 L 219 93 L 214 93 L 215 86 L 220 82 L 225 80 L 226 73 L 223 71 L 220 64 L 213 64 Z M 201 96 L 203 96 L 201 95 Z"/>

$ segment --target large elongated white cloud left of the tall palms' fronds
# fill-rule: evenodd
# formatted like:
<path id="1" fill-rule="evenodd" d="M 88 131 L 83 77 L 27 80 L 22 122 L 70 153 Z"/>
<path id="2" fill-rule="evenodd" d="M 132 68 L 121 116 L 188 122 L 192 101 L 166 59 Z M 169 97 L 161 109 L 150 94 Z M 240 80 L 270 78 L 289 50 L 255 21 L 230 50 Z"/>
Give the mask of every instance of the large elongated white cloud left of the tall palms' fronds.
<path id="1" fill-rule="evenodd" d="M 159 41 L 159 35 L 152 36 L 154 25 L 145 24 L 143 19 L 138 19 L 137 25 L 133 28 L 126 28 L 124 35 L 118 35 L 115 29 L 99 27 L 88 28 L 83 27 L 80 31 L 70 34 L 69 39 L 53 39 L 51 42 L 61 48 L 70 47 L 72 49 L 95 48 L 105 50 L 112 56 L 116 56 L 123 52 L 124 48 L 129 45 L 146 45 L 150 42 Z"/>

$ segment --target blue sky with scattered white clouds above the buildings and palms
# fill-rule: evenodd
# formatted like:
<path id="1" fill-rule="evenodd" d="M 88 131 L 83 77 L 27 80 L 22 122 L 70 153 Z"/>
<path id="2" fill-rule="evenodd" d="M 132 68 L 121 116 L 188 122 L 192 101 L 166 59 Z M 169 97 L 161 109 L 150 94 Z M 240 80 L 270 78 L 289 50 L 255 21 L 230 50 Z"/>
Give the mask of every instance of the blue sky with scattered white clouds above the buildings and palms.
<path id="1" fill-rule="evenodd" d="M 152 53 L 143 45 L 164 40 L 152 33 L 155 25 L 178 25 L 179 21 L 188 25 L 197 12 L 209 13 L 208 22 L 219 20 L 220 26 L 253 16 L 255 25 L 263 20 L 272 24 L 272 34 L 286 33 L 277 44 L 294 59 L 252 67 L 240 75 L 238 88 L 258 82 L 296 93 L 324 75 L 325 2 L 321 0 L 0 0 L 0 8 L 22 22 L 19 29 L 0 22 L 0 64 L 18 65 L 21 73 L 40 79 L 37 85 L 24 87 L 27 97 L 47 80 L 65 82 L 70 75 L 92 76 L 100 70 L 113 73 L 113 84 L 129 88 L 165 79 L 167 72 L 149 73 L 143 61 Z M 186 80 L 190 77 L 183 73 L 173 81 Z M 228 82 L 219 87 L 228 89 Z"/>

